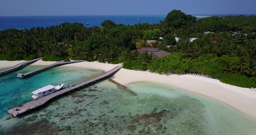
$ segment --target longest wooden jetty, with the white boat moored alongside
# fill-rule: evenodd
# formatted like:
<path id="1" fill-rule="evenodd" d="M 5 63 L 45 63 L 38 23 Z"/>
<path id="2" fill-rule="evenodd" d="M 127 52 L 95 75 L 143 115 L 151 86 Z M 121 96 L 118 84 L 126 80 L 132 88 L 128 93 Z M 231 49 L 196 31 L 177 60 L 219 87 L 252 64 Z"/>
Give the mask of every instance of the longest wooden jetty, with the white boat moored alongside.
<path id="1" fill-rule="evenodd" d="M 77 91 L 78 89 L 87 87 L 91 84 L 95 84 L 95 83 L 105 80 L 109 77 L 112 77 L 121 68 L 122 68 L 122 66 L 116 66 L 114 69 L 111 69 L 111 70 L 107 71 L 106 73 L 99 75 L 98 77 L 88 79 L 88 80 L 78 83 L 78 84 L 74 84 L 73 86 L 70 86 L 69 88 L 62 89 L 61 91 L 57 91 L 55 93 L 52 93 L 51 95 L 47 95 L 45 97 L 39 98 L 38 100 L 34 100 L 34 101 L 28 102 L 26 104 L 19 105 L 19 107 L 15 107 L 15 108 L 7 110 L 7 111 L 10 114 L 10 116 L 13 115 L 15 117 L 20 116 L 25 113 L 28 113 L 31 110 L 34 110 L 40 106 L 43 106 L 48 101 L 51 101 L 53 98 L 66 95 L 69 92 Z"/>

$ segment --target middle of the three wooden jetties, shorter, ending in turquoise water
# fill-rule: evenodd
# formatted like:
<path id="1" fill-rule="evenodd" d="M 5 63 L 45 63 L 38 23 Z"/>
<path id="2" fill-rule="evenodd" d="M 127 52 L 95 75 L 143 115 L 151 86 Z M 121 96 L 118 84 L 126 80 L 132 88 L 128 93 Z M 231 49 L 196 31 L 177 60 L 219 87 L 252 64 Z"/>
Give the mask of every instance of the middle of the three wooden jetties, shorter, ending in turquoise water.
<path id="1" fill-rule="evenodd" d="M 51 65 L 48 65 L 48 66 L 44 66 L 43 68 L 39 68 L 39 69 L 35 69 L 35 70 L 32 70 L 32 71 L 29 71 L 28 73 L 24 73 L 24 74 L 21 74 L 19 73 L 17 75 L 17 77 L 19 78 L 26 78 L 26 77 L 29 77 L 30 75 L 33 75 L 33 74 L 37 74 L 41 71 L 44 71 L 44 70 L 47 70 L 47 69 L 51 69 L 51 68 L 54 68 L 56 66 L 61 66 L 61 65 L 66 65 L 66 64 L 73 64 L 73 63 L 77 63 L 77 62 L 83 62 L 84 60 L 77 60 L 77 61 L 59 61 L 59 62 L 56 62 L 54 64 L 51 64 Z"/>

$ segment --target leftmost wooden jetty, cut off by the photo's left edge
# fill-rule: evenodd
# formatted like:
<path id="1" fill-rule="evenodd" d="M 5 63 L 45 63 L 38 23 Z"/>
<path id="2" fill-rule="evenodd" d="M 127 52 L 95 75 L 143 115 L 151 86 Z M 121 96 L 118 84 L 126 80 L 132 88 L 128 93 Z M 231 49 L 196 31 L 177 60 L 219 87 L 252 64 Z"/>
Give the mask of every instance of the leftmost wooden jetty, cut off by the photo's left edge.
<path id="1" fill-rule="evenodd" d="M 33 64 L 35 61 L 38 61 L 38 60 L 40 60 L 40 59 L 42 59 L 42 57 L 41 57 L 41 58 L 38 58 L 38 59 L 34 59 L 34 60 L 22 62 L 22 63 L 20 63 L 20 64 L 17 64 L 17 65 L 15 65 L 15 66 L 11 67 L 11 68 L 1 70 L 1 71 L 0 71 L 0 77 L 3 76 L 3 75 L 6 75 L 6 74 L 8 74 L 8 73 L 11 73 L 12 71 L 16 71 L 16 70 L 22 69 L 22 68 L 24 68 L 25 66 L 28 66 L 28 65 L 30 65 L 30 64 Z"/>

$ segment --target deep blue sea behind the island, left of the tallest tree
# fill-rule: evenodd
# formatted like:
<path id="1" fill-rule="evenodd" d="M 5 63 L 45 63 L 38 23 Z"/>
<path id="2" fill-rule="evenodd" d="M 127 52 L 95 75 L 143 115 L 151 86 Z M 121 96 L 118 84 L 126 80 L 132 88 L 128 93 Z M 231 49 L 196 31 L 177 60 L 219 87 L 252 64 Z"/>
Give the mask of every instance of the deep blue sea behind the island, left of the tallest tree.
<path id="1" fill-rule="evenodd" d="M 101 26 L 105 20 L 114 21 L 115 24 L 134 25 L 138 23 L 157 24 L 164 20 L 165 15 L 159 16 L 0 16 L 0 30 L 24 29 L 33 27 L 49 27 L 63 22 L 80 22 L 84 26 Z M 89 25 L 86 25 L 86 24 Z"/>

